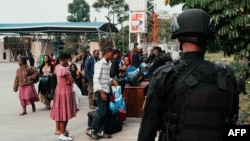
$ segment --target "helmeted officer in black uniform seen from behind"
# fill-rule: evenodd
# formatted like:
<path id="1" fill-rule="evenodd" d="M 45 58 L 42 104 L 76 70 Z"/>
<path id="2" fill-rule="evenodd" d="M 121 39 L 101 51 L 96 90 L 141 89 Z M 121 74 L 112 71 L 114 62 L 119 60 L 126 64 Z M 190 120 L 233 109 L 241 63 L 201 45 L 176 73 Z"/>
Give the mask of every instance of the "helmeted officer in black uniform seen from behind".
<path id="1" fill-rule="evenodd" d="M 172 39 L 183 53 L 153 72 L 138 141 L 222 141 L 223 127 L 235 124 L 239 97 L 233 72 L 204 60 L 215 24 L 201 9 L 182 12 L 172 22 Z"/>

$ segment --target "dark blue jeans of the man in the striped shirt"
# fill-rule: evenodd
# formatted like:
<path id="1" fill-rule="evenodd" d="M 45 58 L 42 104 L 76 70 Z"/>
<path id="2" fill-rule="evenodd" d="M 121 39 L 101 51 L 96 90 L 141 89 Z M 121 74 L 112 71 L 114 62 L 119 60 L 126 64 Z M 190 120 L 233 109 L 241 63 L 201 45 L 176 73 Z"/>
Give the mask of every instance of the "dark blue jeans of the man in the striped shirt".
<path id="1" fill-rule="evenodd" d="M 95 92 L 96 101 L 97 101 L 97 111 L 94 120 L 92 121 L 90 128 L 95 129 L 98 132 L 105 131 L 106 123 L 108 122 L 110 116 L 109 108 L 109 95 L 107 95 L 107 101 L 103 101 L 101 97 L 101 92 Z"/>

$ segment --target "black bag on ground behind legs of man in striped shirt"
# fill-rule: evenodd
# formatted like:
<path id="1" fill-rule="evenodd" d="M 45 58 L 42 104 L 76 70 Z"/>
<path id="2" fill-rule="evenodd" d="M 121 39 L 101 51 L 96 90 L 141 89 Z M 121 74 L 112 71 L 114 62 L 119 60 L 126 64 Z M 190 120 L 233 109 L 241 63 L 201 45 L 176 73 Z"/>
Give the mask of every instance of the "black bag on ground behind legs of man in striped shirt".
<path id="1" fill-rule="evenodd" d="M 88 115 L 88 126 L 90 126 L 93 119 L 96 116 L 96 111 L 88 112 L 87 115 Z M 115 116 L 111 115 L 106 124 L 105 133 L 114 134 L 120 132 L 121 130 L 122 130 L 122 123 L 119 120 L 117 120 Z"/>

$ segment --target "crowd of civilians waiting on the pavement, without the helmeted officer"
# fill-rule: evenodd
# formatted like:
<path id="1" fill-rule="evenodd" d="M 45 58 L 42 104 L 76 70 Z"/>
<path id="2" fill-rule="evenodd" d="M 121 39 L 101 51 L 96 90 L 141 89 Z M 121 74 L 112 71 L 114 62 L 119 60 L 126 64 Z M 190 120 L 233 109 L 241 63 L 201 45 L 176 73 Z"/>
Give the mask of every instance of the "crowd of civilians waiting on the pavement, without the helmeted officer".
<path id="1" fill-rule="evenodd" d="M 72 136 L 66 130 L 68 120 L 75 117 L 80 109 L 79 95 L 87 95 L 89 109 L 97 110 L 86 134 L 94 139 L 111 138 L 111 135 L 105 133 L 105 125 L 111 114 L 110 86 L 121 85 L 123 90 L 128 70 L 139 68 L 143 62 L 153 64 L 155 58 L 166 55 L 160 47 L 154 47 L 151 56 L 145 58 L 137 43 L 124 56 L 119 50 L 112 48 L 105 48 L 102 58 L 99 50 L 94 50 L 92 54 L 82 51 L 79 56 L 72 59 L 71 55 L 61 53 L 56 60 L 53 59 L 53 54 L 44 55 L 40 58 L 37 68 L 33 62 L 32 66 L 27 64 L 27 57 L 20 56 L 20 67 L 17 69 L 14 83 L 14 91 L 19 92 L 23 108 L 20 116 L 27 114 L 26 106 L 29 104 L 35 112 L 35 102 L 40 100 L 47 110 L 51 110 L 50 117 L 55 120 L 55 134 L 59 135 L 58 139 L 72 140 Z M 167 58 L 170 59 L 170 56 Z M 80 62 L 80 69 L 72 62 Z M 149 66 L 149 70 L 153 70 L 154 65 Z M 38 91 L 34 85 L 37 82 Z"/>

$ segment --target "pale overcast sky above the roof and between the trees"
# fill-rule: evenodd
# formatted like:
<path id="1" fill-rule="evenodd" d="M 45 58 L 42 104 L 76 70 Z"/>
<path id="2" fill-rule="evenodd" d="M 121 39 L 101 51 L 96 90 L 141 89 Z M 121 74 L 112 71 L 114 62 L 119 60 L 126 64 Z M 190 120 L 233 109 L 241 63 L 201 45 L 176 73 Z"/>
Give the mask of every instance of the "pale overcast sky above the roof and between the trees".
<path id="1" fill-rule="evenodd" d="M 0 23 L 66 22 L 68 4 L 73 0 L 1 0 Z M 86 0 L 92 6 L 95 0 Z M 163 0 L 156 0 L 157 10 L 178 13 L 181 6 L 170 8 L 163 5 Z M 97 13 L 91 7 L 90 19 L 107 22 L 106 11 Z"/>

